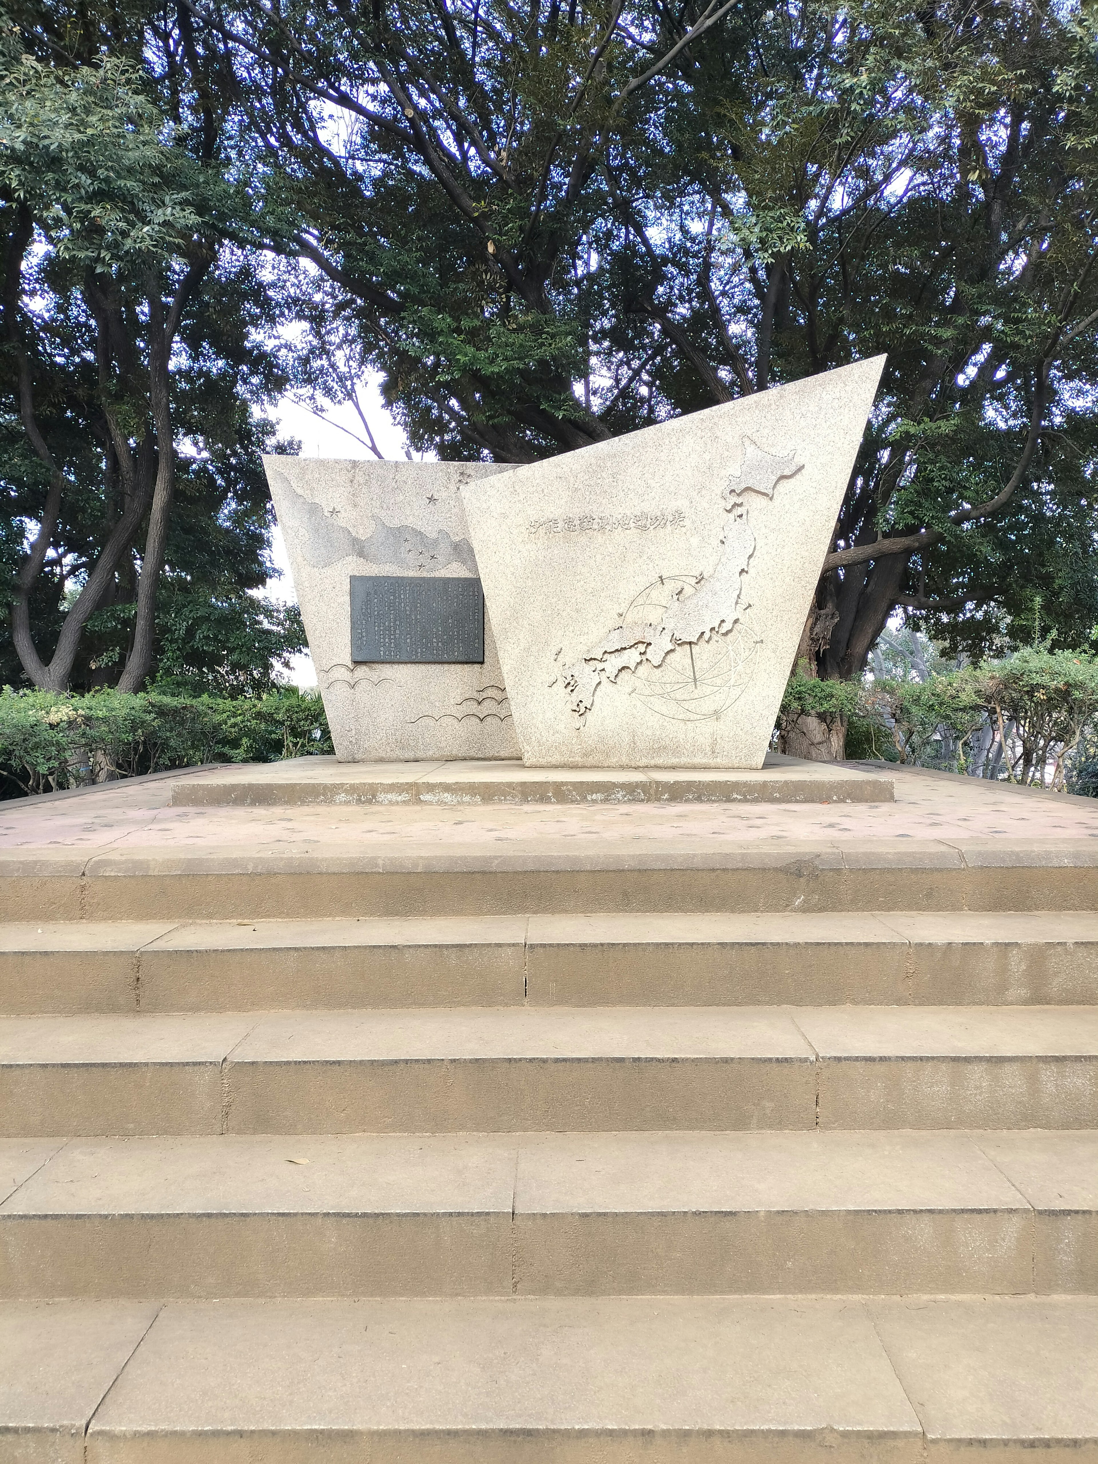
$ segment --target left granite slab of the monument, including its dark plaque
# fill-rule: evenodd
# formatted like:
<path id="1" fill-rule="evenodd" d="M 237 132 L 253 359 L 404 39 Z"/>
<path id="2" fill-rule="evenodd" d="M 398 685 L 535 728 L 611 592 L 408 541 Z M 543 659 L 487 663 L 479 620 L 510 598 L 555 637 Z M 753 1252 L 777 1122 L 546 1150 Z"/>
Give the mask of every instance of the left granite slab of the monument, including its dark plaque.
<path id="1" fill-rule="evenodd" d="M 458 489 L 488 463 L 265 457 L 341 761 L 515 758 Z"/>

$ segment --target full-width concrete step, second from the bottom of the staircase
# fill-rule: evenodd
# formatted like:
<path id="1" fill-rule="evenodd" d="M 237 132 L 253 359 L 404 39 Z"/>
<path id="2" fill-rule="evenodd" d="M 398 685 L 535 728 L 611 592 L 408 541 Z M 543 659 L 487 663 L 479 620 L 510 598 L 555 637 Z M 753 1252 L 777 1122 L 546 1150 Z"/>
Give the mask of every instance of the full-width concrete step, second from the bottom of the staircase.
<path id="1" fill-rule="evenodd" d="M 1098 1291 L 1098 1133 L 0 1140 L 0 1296 Z"/>

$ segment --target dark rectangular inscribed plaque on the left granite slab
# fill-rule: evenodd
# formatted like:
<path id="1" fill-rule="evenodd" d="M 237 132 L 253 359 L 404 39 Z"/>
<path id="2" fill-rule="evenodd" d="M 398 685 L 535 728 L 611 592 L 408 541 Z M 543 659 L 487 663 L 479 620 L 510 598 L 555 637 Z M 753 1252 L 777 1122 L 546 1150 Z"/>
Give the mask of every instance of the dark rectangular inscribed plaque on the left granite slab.
<path id="1" fill-rule="evenodd" d="M 483 659 L 480 580 L 351 575 L 351 660 L 480 665 Z"/>

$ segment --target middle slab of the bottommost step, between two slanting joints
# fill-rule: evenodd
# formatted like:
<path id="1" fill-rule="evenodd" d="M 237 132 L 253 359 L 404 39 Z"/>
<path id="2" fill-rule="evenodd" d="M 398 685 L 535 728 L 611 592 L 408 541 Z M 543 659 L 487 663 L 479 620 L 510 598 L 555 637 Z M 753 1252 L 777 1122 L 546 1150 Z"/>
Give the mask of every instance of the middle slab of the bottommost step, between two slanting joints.
<path id="1" fill-rule="evenodd" d="M 859 1301 L 167 1306 L 88 1464 L 916 1464 Z"/>

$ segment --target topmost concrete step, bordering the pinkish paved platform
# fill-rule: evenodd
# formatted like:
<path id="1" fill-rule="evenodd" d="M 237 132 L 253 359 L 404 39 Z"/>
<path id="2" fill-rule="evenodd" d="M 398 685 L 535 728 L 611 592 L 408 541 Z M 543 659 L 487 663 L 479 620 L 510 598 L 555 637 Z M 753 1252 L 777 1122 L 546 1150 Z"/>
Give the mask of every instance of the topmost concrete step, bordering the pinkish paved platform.
<path id="1" fill-rule="evenodd" d="M 199 817 L 208 813 L 202 810 Z M 224 817 L 243 813 L 228 810 Z M 246 833 L 224 830 L 234 839 Z M 262 836 L 274 842 L 190 846 L 180 832 L 171 848 L 3 848 L 0 918 L 1098 908 L 1098 848 L 1085 839 L 1012 843 L 996 836 L 966 840 L 962 849 L 903 837 L 691 840 L 687 829 L 668 837 L 615 837 L 608 832 L 581 840 L 565 832 L 515 845 L 485 829 L 483 815 L 467 845 L 452 837 L 452 826 L 442 839 L 416 845 L 414 830 L 408 830 L 373 849 L 338 840 L 329 830 L 318 830 L 315 842 L 297 849 L 290 840 L 280 842 L 274 829 Z"/>

